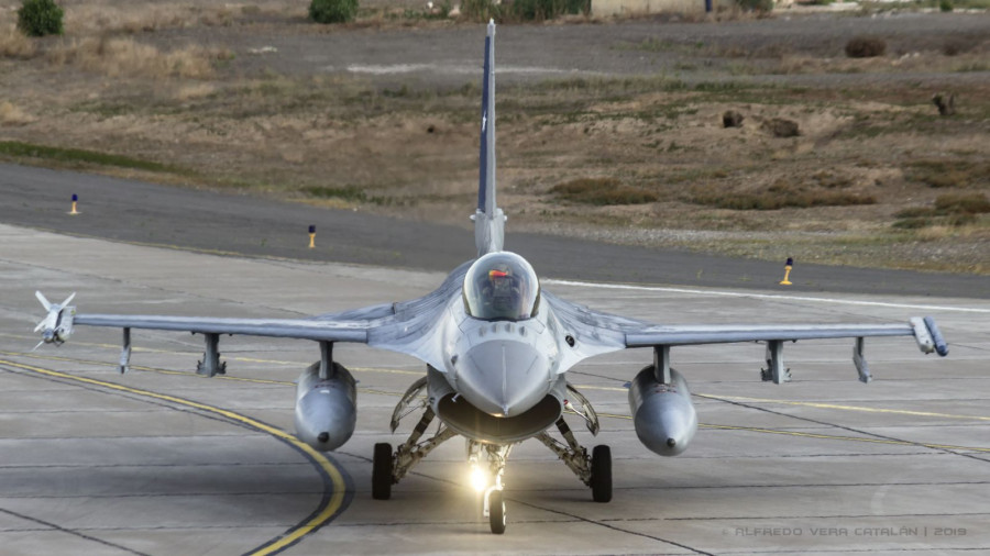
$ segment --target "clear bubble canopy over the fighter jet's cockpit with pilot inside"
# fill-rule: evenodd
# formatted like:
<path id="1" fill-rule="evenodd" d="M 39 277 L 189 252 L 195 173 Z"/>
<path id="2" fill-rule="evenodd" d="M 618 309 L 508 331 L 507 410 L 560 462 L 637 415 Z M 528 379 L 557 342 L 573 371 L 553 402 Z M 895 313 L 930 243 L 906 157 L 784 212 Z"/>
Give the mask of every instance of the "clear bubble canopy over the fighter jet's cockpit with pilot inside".
<path id="1" fill-rule="evenodd" d="M 464 276 L 464 305 L 475 319 L 525 321 L 536 315 L 539 299 L 536 271 L 515 253 L 488 253 Z"/>

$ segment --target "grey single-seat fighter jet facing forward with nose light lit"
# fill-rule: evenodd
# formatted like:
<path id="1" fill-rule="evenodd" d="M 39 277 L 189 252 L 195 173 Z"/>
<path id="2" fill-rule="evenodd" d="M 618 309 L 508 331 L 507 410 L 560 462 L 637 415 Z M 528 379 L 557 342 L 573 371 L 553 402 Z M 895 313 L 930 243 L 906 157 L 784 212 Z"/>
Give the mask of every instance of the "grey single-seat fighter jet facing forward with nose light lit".
<path id="1" fill-rule="evenodd" d="M 495 24 L 485 37 L 481 110 L 481 153 L 475 226 L 477 257 L 455 268 L 433 292 L 398 303 L 384 303 L 309 319 L 218 319 L 163 315 L 85 314 L 68 305 L 38 300 L 47 311 L 36 332 L 41 343 L 61 344 L 74 326 L 123 330 L 120 370 L 127 371 L 131 330 L 184 331 L 206 338 L 197 371 L 227 371 L 220 360 L 221 334 L 301 338 L 318 342 L 320 360 L 299 377 L 296 434 L 318 451 L 342 446 L 354 432 L 356 390 L 351 372 L 333 359 L 338 342 L 364 343 L 407 354 L 426 364 L 395 408 L 395 432 L 403 418 L 419 414 L 408 438 L 393 449 L 374 447 L 372 497 L 385 500 L 392 488 L 441 443 L 463 436 L 474 486 L 483 493 L 483 512 L 493 533 L 506 529 L 503 478 L 517 444 L 536 438 L 557 454 L 591 488 L 596 502 L 612 499 L 608 446 L 591 453 L 575 438 L 564 413 L 579 415 L 595 435 L 598 419 L 588 400 L 568 381 L 568 370 L 582 360 L 626 348 L 650 348 L 651 360 L 630 377 L 629 410 L 636 434 L 652 452 L 675 456 L 697 430 L 697 416 L 684 377 L 670 367 L 674 346 L 761 342 L 767 346 L 762 379 L 790 379 L 783 365 L 784 342 L 855 338 L 853 360 L 864 382 L 870 372 L 864 338 L 913 336 L 923 353 L 948 353 L 931 318 L 903 324 L 832 325 L 664 325 L 607 314 L 568 302 L 544 290 L 534 267 L 505 251 L 506 216 L 495 198 Z M 427 435 L 439 420 L 437 432 Z M 559 436 L 551 436 L 557 430 Z"/>

